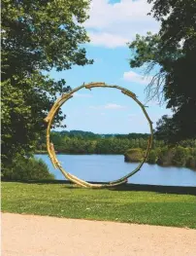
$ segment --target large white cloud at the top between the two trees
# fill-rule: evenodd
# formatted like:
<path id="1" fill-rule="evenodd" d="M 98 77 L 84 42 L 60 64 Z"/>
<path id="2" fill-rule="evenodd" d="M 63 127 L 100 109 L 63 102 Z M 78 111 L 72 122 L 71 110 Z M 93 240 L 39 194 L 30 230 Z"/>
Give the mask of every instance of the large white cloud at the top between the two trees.
<path id="1" fill-rule="evenodd" d="M 121 0 L 110 4 L 108 0 L 92 0 L 89 19 L 84 23 L 91 44 L 109 48 L 126 46 L 135 35 L 156 32 L 158 22 L 147 16 L 151 5 L 147 0 Z"/>

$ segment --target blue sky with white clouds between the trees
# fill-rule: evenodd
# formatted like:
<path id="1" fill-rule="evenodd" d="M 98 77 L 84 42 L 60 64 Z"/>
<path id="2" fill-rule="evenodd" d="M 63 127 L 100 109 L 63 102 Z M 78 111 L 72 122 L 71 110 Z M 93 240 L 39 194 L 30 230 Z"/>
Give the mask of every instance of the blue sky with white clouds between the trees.
<path id="1" fill-rule="evenodd" d="M 150 6 L 145 0 L 93 0 L 84 23 L 91 42 L 85 46 L 94 64 L 63 72 L 50 72 L 54 79 L 64 78 L 72 89 L 82 83 L 105 82 L 124 87 L 145 102 L 143 69 L 131 69 L 131 53 L 126 45 L 136 33 L 156 32 L 159 24 L 147 17 Z M 147 113 L 154 123 L 164 114 L 171 114 L 156 100 L 147 103 Z M 148 132 L 147 121 L 133 100 L 113 89 L 82 90 L 62 107 L 67 115 L 67 130 L 82 129 L 97 133 Z"/>

